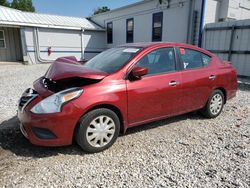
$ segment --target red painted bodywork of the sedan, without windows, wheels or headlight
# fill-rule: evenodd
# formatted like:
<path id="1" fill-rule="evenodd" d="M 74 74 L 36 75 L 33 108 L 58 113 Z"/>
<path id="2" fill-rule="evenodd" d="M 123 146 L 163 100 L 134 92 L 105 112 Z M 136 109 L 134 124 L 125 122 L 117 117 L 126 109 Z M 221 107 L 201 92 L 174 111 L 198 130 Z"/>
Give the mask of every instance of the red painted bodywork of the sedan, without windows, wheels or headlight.
<path id="1" fill-rule="evenodd" d="M 129 46 L 142 47 L 143 50 L 122 69 L 110 75 L 98 70 L 86 69 L 73 57 L 60 58 L 55 61 L 46 73 L 48 78 L 58 80 L 74 76 L 101 81 L 83 86 L 84 92 L 81 97 L 67 103 L 62 108 L 62 112 L 47 115 L 35 115 L 30 112 L 30 109 L 42 98 L 53 94 L 43 87 L 41 79 L 35 81 L 34 88 L 39 92 L 39 97 L 25 108 L 24 113 L 18 113 L 28 139 L 33 144 L 43 146 L 69 145 L 72 143 L 79 119 L 99 105 L 109 105 L 118 109 L 122 115 L 124 130 L 126 130 L 131 126 L 198 110 L 205 106 L 209 95 L 216 88 L 225 90 L 227 99 L 236 95 L 236 70 L 204 49 L 178 43 L 143 43 Z M 126 79 L 126 75 L 140 58 L 161 47 L 194 49 L 209 55 L 211 63 L 204 68 L 154 76 L 145 75 L 133 81 Z M 135 74 L 144 74 L 146 71 L 145 69 L 133 70 Z M 210 75 L 216 75 L 216 79 L 209 80 Z M 178 84 L 170 86 L 170 82 Z M 40 140 L 32 133 L 31 127 L 47 128 L 57 136 L 57 139 Z"/>

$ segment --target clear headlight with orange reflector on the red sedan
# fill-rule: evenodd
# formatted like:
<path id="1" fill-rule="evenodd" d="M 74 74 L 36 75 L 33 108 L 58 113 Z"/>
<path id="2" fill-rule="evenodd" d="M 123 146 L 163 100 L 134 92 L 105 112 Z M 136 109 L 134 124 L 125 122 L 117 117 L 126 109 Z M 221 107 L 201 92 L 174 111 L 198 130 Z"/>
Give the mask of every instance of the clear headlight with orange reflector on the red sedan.
<path id="1" fill-rule="evenodd" d="M 37 103 L 30 111 L 35 114 L 49 114 L 60 112 L 63 104 L 72 101 L 81 96 L 83 90 L 81 88 L 70 88 L 55 93 L 39 103 Z"/>

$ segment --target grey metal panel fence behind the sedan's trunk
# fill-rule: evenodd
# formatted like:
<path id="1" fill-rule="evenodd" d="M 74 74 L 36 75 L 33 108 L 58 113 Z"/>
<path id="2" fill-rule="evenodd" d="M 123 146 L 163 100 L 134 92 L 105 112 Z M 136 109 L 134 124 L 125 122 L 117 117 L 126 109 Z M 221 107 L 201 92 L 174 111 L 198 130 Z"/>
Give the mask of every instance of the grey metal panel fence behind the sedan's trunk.
<path id="1" fill-rule="evenodd" d="M 240 76 L 250 76 L 250 20 L 207 24 L 202 47 L 231 61 Z"/>

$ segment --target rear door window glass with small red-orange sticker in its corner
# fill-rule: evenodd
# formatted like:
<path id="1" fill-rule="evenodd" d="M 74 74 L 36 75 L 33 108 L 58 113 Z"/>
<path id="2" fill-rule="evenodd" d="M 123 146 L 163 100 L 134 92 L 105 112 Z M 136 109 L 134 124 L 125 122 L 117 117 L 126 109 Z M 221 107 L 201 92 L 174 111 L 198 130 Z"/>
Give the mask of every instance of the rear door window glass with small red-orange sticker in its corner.
<path id="1" fill-rule="evenodd" d="M 211 62 L 211 57 L 196 50 L 180 48 L 180 54 L 185 70 L 205 67 Z"/>

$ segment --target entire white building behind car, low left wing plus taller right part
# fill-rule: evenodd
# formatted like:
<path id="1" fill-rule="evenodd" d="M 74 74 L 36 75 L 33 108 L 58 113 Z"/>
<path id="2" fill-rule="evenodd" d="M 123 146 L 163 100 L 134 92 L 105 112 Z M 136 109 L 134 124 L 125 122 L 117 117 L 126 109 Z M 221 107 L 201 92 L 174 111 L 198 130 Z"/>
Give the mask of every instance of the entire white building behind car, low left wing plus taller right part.
<path id="1" fill-rule="evenodd" d="M 0 61 L 90 59 L 131 42 L 198 45 L 205 24 L 250 18 L 250 0 L 144 0 L 85 18 L 26 13 L 0 6 Z"/>

